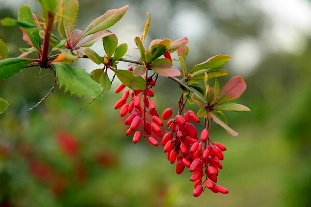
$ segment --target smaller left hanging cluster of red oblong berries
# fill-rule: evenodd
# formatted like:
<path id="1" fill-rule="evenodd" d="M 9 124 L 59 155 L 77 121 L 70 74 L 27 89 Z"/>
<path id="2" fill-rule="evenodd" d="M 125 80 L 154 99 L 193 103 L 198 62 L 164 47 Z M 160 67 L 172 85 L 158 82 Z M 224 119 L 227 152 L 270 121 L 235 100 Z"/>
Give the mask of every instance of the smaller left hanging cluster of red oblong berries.
<path id="1" fill-rule="evenodd" d="M 133 68 L 130 67 L 128 70 L 132 71 Z M 163 136 L 161 129 L 163 122 L 159 118 L 155 102 L 151 100 L 151 97 L 154 96 L 154 92 L 151 88 L 156 85 L 156 81 L 147 75 L 145 80 L 145 89 L 125 90 L 121 99 L 114 105 L 114 108 L 121 108 L 121 117 L 126 116 L 129 113 L 129 116 L 125 119 L 125 124 L 130 126 L 126 135 L 129 136 L 136 131 L 133 136 L 134 143 L 137 143 L 141 137 L 148 137 L 148 140 L 152 145 L 158 146 L 158 141 L 155 137 L 161 138 Z M 125 85 L 121 83 L 116 88 L 115 92 L 119 93 L 124 88 Z M 130 97 L 129 102 L 128 97 Z"/>

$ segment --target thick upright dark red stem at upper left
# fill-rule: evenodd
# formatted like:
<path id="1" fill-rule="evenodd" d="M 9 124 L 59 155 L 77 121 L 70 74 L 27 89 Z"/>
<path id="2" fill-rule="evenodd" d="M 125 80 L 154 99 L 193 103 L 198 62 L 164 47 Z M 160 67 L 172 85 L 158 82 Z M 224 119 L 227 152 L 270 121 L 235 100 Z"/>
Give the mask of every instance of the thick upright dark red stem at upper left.
<path id="1" fill-rule="evenodd" d="M 49 60 L 49 57 L 48 57 L 49 42 L 50 42 L 50 37 L 51 37 L 51 31 L 53 28 L 53 21 L 54 21 L 54 15 L 53 13 L 48 11 L 44 39 L 43 39 L 43 46 L 42 46 L 42 56 L 41 56 L 41 64 L 43 65 L 46 65 Z"/>

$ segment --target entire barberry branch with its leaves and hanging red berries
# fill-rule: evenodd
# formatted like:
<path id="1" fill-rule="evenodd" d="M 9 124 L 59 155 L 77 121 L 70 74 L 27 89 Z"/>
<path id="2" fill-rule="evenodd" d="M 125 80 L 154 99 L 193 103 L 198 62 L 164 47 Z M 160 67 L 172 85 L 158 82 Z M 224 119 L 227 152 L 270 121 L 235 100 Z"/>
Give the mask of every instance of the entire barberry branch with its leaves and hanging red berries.
<path id="1" fill-rule="evenodd" d="M 53 92 L 56 79 L 65 91 L 79 97 L 92 98 L 94 101 L 111 89 L 112 82 L 117 76 L 122 83 L 115 92 L 123 91 L 123 94 L 114 108 L 120 109 L 120 116 L 125 118 L 125 124 L 129 127 L 126 135 L 132 135 L 134 143 L 141 138 L 148 139 L 154 146 L 158 146 L 160 142 L 169 162 L 176 163 L 177 174 L 189 168 L 192 173 L 190 181 L 194 182 L 195 188 L 193 196 L 201 195 L 206 188 L 214 193 L 228 193 L 225 187 L 216 184 L 226 148 L 219 142 L 211 141 L 209 126 L 214 122 L 229 134 L 237 136 L 238 133 L 228 126 L 223 111 L 250 111 L 246 106 L 228 103 L 239 98 L 246 89 L 241 76 L 229 79 L 222 89 L 217 81 L 217 78 L 228 74 L 228 71 L 218 68 L 225 65 L 231 57 L 216 55 L 188 70 L 186 64 L 189 53 L 188 38 L 183 37 L 175 41 L 168 38 L 154 39 L 149 47 L 145 48 L 143 43 L 150 26 L 150 14 L 147 12 L 148 20 L 142 36 L 134 38 L 140 59 L 129 60 L 124 58 L 128 45 L 118 44 L 117 36 L 106 30 L 125 15 L 129 5 L 107 11 L 82 31 L 73 29 L 79 8 L 77 0 L 39 2 L 45 17 L 44 24 L 39 24 L 28 5 L 19 8 L 17 20 L 5 18 L 1 21 L 2 25 L 20 26 L 23 39 L 30 48 L 23 49 L 24 52 L 17 58 L 6 58 L 7 46 L 0 39 L 0 81 L 33 66 L 39 67 L 39 72 L 41 69 L 52 70 L 55 76 L 48 94 L 28 111 L 42 103 Z M 61 36 L 61 39 L 52 33 L 55 22 L 58 24 L 60 34 L 58 36 Z M 105 51 L 103 56 L 89 48 L 100 39 Z M 59 53 L 51 55 L 50 46 L 53 47 L 52 51 Z M 178 59 L 172 58 L 173 52 L 177 52 Z M 38 58 L 26 58 L 30 53 L 37 54 Z M 97 65 L 104 64 L 104 67 L 93 70 L 90 75 L 85 70 L 71 65 L 79 58 L 89 58 Z M 135 64 L 135 67 L 128 70 L 117 69 L 121 61 Z M 180 64 L 181 71 L 172 68 L 173 61 Z M 111 80 L 108 70 L 114 73 Z M 173 107 L 165 109 L 162 113 L 161 118 L 167 121 L 166 132 L 156 104 L 151 100 L 154 97 L 153 87 L 156 86 L 158 76 L 173 80 L 182 90 L 182 95 L 176 103 L 179 106 L 177 115 L 171 118 Z M 210 81 L 214 82 L 212 87 Z M 187 110 L 186 103 L 195 103 L 200 109 L 197 113 Z M 6 110 L 8 103 L 0 98 L 0 105 L 1 114 Z M 200 134 L 195 126 L 200 123 L 199 118 L 205 123 Z"/>

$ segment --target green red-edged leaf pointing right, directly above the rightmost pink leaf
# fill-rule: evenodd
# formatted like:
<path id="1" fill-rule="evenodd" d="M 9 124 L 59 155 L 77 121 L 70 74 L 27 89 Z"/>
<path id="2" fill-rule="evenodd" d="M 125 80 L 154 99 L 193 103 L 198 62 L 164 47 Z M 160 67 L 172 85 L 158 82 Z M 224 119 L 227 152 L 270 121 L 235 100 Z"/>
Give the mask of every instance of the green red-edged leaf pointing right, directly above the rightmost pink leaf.
<path id="1" fill-rule="evenodd" d="M 202 62 L 200 64 L 197 64 L 193 67 L 191 70 L 191 73 L 194 73 L 196 71 L 202 70 L 202 69 L 208 69 L 208 68 L 218 68 L 230 60 L 231 57 L 228 55 L 216 55 L 211 58 L 209 58 L 207 61 Z"/>

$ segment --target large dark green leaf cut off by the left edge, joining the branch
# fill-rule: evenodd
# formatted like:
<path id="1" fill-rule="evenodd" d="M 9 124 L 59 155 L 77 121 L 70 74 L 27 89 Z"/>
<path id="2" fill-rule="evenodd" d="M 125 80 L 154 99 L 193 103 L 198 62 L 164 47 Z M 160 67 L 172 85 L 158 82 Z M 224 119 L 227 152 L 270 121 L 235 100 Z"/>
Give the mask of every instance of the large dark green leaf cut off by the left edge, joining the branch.
<path id="1" fill-rule="evenodd" d="M 8 77 L 23 70 L 29 63 L 33 62 L 32 59 L 27 58 L 7 58 L 0 60 L 0 80 L 7 79 Z"/>

